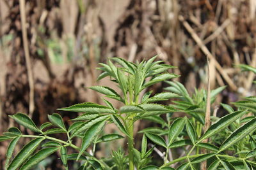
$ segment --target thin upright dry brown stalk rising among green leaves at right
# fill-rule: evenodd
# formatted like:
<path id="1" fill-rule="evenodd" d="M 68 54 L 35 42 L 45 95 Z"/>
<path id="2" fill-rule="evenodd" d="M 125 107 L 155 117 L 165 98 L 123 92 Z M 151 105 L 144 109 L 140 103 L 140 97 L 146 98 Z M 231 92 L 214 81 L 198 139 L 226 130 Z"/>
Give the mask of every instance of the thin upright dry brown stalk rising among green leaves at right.
<path id="1" fill-rule="evenodd" d="M 211 87 L 210 87 L 210 69 L 209 69 L 209 57 L 207 56 L 207 103 L 206 103 L 206 111 L 205 111 L 205 124 L 204 124 L 204 132 L 210 127 L 211 124 Z M 208 138 L 204 139 L 204 143 L 207 143 Z M 205 153 L 205 150 L 202 150 L 202 153 Z M 206 160 L 202 162 L 201 168 L 206 170 Z"/>

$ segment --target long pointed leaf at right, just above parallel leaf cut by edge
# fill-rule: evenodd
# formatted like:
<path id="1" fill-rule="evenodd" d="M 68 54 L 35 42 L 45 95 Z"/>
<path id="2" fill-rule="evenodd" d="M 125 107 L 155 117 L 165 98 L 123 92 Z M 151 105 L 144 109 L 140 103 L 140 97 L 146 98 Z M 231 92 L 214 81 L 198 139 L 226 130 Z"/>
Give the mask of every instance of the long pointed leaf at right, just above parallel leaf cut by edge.
<path id="1" fill-rule="evenodd" d="M 225 117 L 220 118 L 215 124 L 211 125 L 209 129 L 205 132 L 205 134 L 200 138 L 199 141 L 202 141 L 206 138 L 211 137 L 212 135 L 220 132 L 222 129 L 230 125 L 232 122 L 237 120 L 237 118 L 242 117 L 245 113 L 248 113 L 248 111 L 236 111 L 234 113 L 230 113 L 226 115 Z"/>

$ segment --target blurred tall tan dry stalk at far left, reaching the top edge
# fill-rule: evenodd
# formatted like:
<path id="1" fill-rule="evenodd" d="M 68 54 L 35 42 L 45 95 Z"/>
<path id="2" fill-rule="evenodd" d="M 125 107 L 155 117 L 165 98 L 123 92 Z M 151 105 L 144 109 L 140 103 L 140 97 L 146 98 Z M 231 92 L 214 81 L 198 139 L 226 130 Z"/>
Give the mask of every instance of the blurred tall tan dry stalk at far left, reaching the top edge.
<path id="1" fill-rule="evenodd" d="M 25 10 L 25 0 L 19 0 L 20 3 L 20 18 L 21 18 L 21 29 L 22 29 L 22 40 L 25 52 L 26 67 L 28 70 L 28 82 L 29 82 L 29 117 L 32 117 L 33 111 L 35 109 L 34 101 L 34 81 L 33 73 L 31 68 L 31 61 L 29 57 L 29 48 L 28 48 L 28 37 L 26 29 L 26 10 Z"/>

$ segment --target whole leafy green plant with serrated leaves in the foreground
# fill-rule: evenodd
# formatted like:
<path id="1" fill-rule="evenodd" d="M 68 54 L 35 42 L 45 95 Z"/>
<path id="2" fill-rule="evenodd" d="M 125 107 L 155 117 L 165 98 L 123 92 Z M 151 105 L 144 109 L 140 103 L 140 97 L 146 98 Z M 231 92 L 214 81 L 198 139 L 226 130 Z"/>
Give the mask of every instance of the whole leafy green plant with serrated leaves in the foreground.
<path id="1" fill-rule="evenodd" d="M 207 92 L 195 90 L 192 97 L 186 88 L 179 82 L 166 81 L 177 78 L 178 75 L 168 73 L 173 66 L 163 64 L 163 61 L 154 61 L 156 57 L 140 63 L 127 62 L 120 58 L 111 58 L 108 64 L 100 64 L 102 71 L 98 80 L 109 76 L 113 83 L 122 91 L 118 94 L 109 87 L 93 86 L 90 89 L 104 94 L 124 104 L 115 108 L 108 100 L 103 99 L 106 106 L 96 103 L 81 103 L 61 108 L 63 111 L 83 113 L 74 118 L 72 125 L 66 127 L 58 113 L 49 115 L 50 122 L 42 124 L 39 128 L 25 114 L 17 113 L 13 118 L 18 124 L 35 132 L 34 135 L 22 134 L 19 129 L 12 127 L 0 136 L 0 141 L 12 140 L 6 152 L 6 169 L 31 169 L 41 160 L 54 152 L 60 152 L 63 167 L 68 169 L 68 160 L 80 162 L 79 169 L 200 169 L 200 162 L 207 160 L 208 169 L 253 169 L 255 162 L 255 106 L 252 104 L 239 105 L 234 111 L 227 104 L 222 104 L 227 110 L 225 117 L 212 117 L 212 124 L 207 131 L 204 127 L 205 106 Z M 116 66 L 112 61 L 116 62 Z M 166 90 L 152 95 L 147 88 L 166 81 L 170 85 Z M 211 102 L 225 87 L 211 91 Z M 144 91 L 145 94 L 144 94 Z M 176 98 L 172 104 L 165 106 L 155 102 L 168 101 Z M 248 97 L 246 101 L 255 104 L 255 97 Z M 253 109 L 253 110 L 252 110 Z M 173 113 L 183 112 L 188 117 L 174 118 Z M 252 113 L 251 117 L 242 118 Z M 161 115 L 166 115 L 164 120 Z M 134 148 L 134 122 L 150 120 L 159 124 L 159 127 L 142 129 L 143 133 L 140 149 Z M 95 157 L 95 148 L 98 143 L 124 138 L 120 134 L 103 134 L 106 124 L 115 124 L 128 141 L 128 154 L 121 149 L 113 151 L 109 159 Z M 67 140 L 54 138 L 51 134 L 63 133 Z M 27 143 L 12 159 L 13 150 L 20 138 L 35 138 Z M 74 145 L 74 139 L 81 139 L 81 145 Z M 148 147 L 148 139 L 155 146 Z M 205 139 L 208 139 L 205 142 Z M 92 146 L 92 153 L 86 149 Z M 39 149 L 36 153 L 36 148 Z M 75 153 L 68 154 L 73 148 Z M 177 148 L 184 150 L 179 154 Z M 207 153 L 202 154 L 202 149 Z M 73 150 L 73 151 L 74 151 Z M 157 167 L 152 161 L 154 150 L 164 150 L 162 165 Z M 33 156 L 31 156 L 33 155 Z M 154 164 L 154 165 L 150 165 Z"/>

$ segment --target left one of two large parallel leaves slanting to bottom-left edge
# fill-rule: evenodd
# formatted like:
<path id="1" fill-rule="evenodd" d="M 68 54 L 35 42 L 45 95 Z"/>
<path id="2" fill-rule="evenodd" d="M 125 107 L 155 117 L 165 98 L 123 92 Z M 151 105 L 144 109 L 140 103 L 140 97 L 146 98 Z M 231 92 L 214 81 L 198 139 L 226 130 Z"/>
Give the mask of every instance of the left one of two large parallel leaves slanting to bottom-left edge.
<path id="1" fill-rule="evenodd" d="M 14 157 L 11 164 L 8 166 L 7 170 L 15 170 L 17 169 L 30 155 L 35 151 L 38 145 L 45 138 L 36 138 L 30 141 L 27 145 L 25 145 L 20 152 Z"/>

